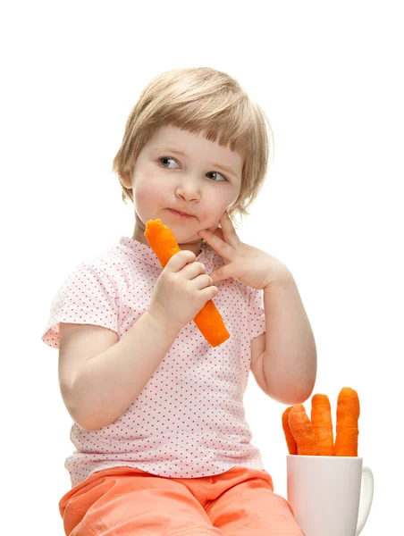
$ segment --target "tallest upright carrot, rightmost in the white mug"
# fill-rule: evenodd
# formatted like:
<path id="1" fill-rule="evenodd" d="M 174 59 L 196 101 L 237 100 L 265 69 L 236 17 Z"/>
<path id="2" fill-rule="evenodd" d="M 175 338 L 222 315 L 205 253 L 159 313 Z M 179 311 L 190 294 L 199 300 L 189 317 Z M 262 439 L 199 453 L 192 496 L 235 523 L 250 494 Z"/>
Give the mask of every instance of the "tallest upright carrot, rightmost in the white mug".
<path id="1" fill-rule="evenodd" d="M 337 401 L 335 456 L 358 456 L 359 414 L 357 391 L 343 387 Z"/>

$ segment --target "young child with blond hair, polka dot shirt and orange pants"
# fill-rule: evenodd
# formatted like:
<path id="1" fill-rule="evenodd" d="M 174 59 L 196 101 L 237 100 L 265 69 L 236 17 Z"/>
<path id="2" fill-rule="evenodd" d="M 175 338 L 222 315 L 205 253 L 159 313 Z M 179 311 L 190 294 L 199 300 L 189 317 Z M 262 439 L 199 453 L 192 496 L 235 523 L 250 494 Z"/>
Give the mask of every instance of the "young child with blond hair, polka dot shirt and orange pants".
<path id="1" fill-rule="evenodd" d="M 287 405 L 316 380 L 290 271 L 231 220 L 265 180 L 268 134 L 260 106 L 211 68 L 164 72 L 132 109 L 114 172 L 133 235 L 72 271 L 42 335 L 74 421 L 65 534 L 302 534 L 243 406 L 250 370 Z M 181 247 L 164 269 L 144 234 L 157 218 Z M 192 322 L 210 299 L 230 333 L 215 348 Z"/>

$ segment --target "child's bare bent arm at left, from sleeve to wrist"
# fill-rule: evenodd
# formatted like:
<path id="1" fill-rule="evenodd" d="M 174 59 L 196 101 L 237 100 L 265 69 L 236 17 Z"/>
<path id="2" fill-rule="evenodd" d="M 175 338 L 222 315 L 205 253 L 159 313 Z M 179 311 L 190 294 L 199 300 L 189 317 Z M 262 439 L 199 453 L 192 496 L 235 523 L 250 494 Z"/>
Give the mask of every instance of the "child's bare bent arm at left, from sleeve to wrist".
<path id="1" fill-rule="evenodd" d="M 63 340 L 64 330 L 61 329 L 64 353 L 60 357 L 60 385 L 63 402 L 74 422 L 91 431 L 118 419 L 145 387 L 180 329 L 147 311 L 122 339 L 93 357 L 90 356 L 91 339 L 87 339 L 86 349 L 82 337 L 80 341 L 76 337 L 77 344 L 74 343 L 78 330 L 69 335 L 72 340 Z M 79 351 L 84 358 L 78 363 Z M 68 364 L 74 361 L 76 365 L 72 371 L 72 365 L 69 369 Z"/>

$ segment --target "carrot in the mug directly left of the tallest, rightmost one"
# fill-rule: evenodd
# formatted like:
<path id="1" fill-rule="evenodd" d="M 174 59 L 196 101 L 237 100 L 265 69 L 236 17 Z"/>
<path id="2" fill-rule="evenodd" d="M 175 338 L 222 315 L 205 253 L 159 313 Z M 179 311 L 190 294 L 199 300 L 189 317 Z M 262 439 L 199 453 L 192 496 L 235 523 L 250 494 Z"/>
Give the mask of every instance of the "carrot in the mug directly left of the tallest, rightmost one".
<path id="1" fill-rule="evenodd" d="M 311 399 L 311 423 L 315 431 L 319 456 L 333 456 L 331 406 L 326 395 L 317 394 Z"/>

